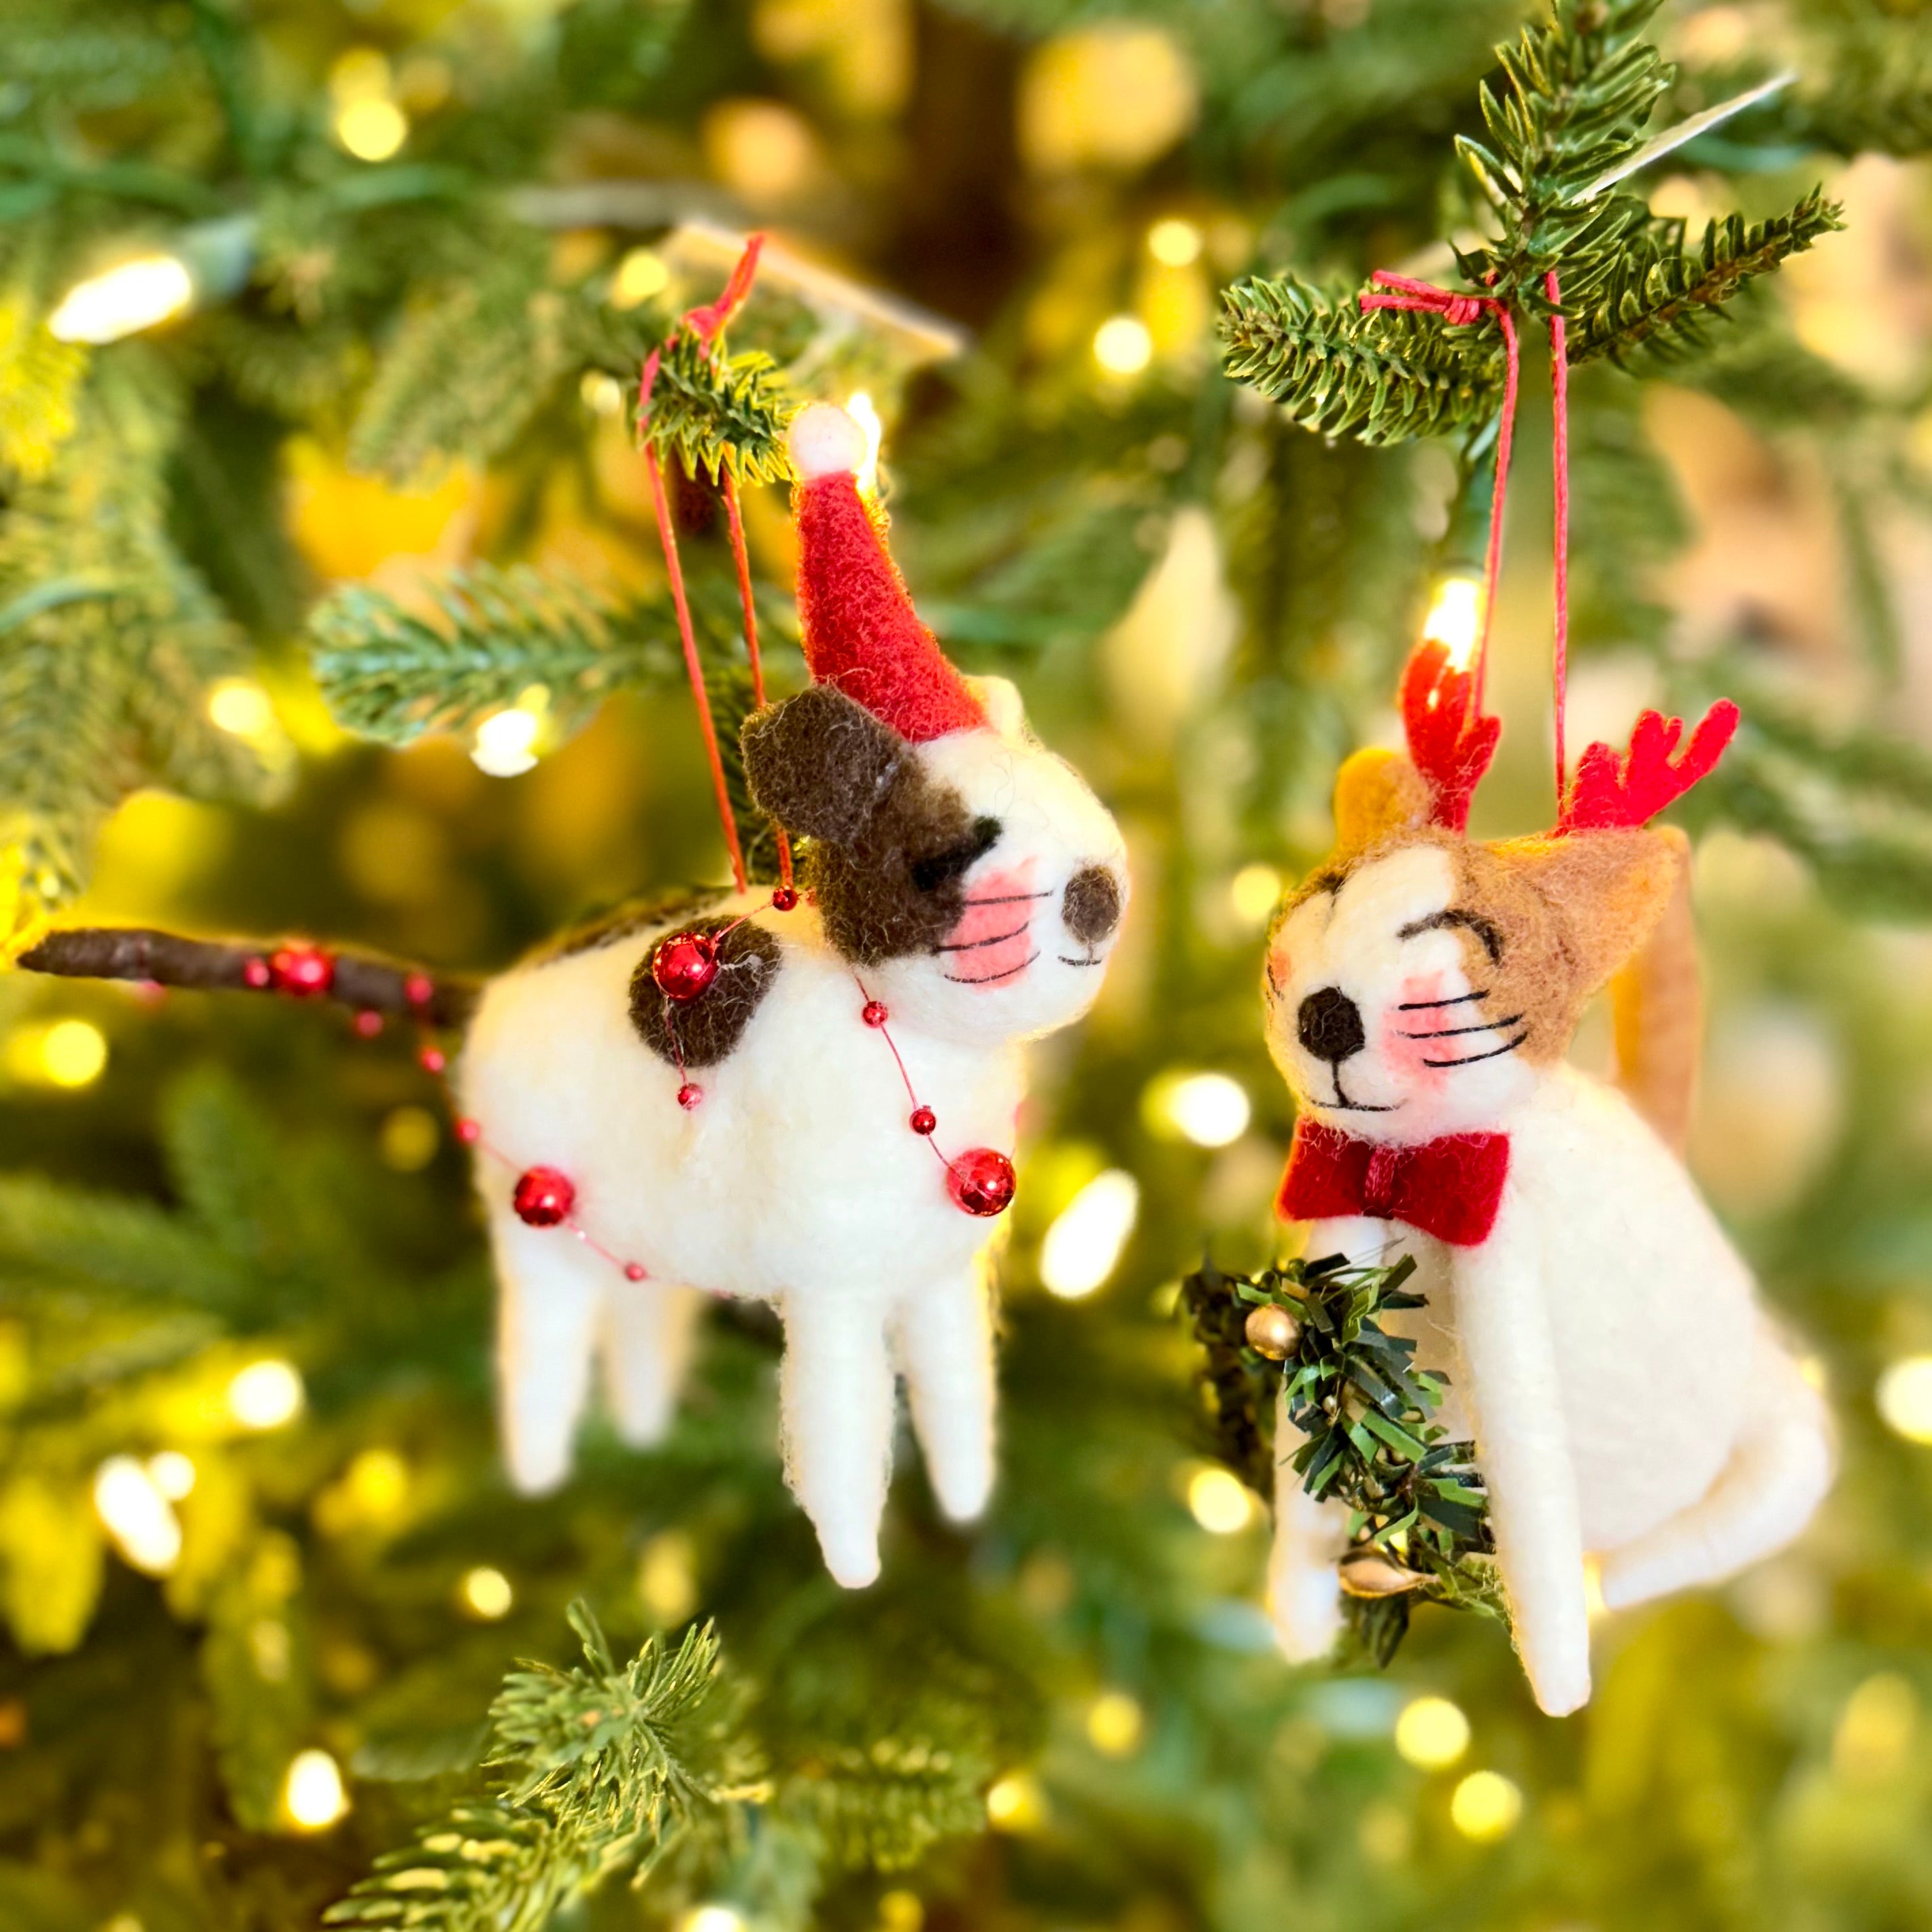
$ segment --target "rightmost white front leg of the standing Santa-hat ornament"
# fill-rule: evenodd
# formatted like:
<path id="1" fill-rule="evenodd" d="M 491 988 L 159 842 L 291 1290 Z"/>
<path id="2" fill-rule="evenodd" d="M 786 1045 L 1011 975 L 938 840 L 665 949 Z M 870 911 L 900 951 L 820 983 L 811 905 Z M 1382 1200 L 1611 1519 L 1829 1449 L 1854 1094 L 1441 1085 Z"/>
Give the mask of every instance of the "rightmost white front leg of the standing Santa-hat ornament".
<path id="1" fill-rule="evenodd" d="M 970 1522 L 993 1492 L 993 1312 L 976 1264 L 906 1293 L 893 1323 L 939 1507 Z"/>

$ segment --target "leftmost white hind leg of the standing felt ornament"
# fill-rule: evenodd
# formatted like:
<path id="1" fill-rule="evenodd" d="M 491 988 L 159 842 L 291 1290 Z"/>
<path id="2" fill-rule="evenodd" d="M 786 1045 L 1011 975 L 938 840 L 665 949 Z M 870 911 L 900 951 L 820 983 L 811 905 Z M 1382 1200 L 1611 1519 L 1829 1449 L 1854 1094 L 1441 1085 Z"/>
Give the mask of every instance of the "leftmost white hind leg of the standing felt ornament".
<path id="1" fill-rule="evenodd" d="M 570 1474 L 591 1389 L 591 1352 L 611 1264 L 562 1227 L 489 1215 L 497 1258 L 497 1416 L 510 1482 L 543 1495 Z"/>

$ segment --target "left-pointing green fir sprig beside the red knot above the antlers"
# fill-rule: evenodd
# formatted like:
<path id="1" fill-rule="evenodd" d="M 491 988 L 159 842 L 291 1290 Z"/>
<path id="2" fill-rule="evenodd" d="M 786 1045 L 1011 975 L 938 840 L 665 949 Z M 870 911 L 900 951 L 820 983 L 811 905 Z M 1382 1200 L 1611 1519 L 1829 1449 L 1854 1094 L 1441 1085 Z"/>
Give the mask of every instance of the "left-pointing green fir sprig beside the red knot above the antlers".
<path id="1" fill-rule="evenodd" d="M 1236 282 L 1221 305 L 1227 373 L 1302 429 L 1403 442 L 1488 421 L 1499 406 L 1501 357 L 1486 323 L 1364 313 L 1291 274 Z"/>

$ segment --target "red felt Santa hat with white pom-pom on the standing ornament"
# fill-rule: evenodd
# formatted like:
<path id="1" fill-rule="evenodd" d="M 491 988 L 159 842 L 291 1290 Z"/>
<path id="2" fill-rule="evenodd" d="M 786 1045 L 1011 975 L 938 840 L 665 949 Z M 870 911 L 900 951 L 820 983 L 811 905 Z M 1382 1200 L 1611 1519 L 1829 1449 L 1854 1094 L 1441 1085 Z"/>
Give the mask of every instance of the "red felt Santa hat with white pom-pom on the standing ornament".
<path id="1" fill-rule="evenodd" d="M 798 524 L 798 620 L 806 667 L 914 744 L 974 730 L 985 709 L 920 622 L 885 547 L 885 518 L 860 495 L 866 431 L 829 402 L 788 433 Z"/>

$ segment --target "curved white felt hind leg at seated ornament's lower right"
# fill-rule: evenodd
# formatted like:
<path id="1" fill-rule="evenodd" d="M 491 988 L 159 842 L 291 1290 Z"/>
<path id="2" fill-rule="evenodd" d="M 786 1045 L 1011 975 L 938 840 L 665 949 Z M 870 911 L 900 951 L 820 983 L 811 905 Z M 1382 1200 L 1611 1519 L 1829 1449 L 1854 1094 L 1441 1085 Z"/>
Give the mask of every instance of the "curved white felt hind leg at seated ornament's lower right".
<path id="1" fill-rule="evenodd" d="M 1791 1542 L 1832 1486 L 1832 1418 L 1770 1323 L 1758 1323 L 1750 1408 L 1710 1492 L 1604 1555 L 1604 1602 L 1625 1609 L 1718 1582 Z"/>

